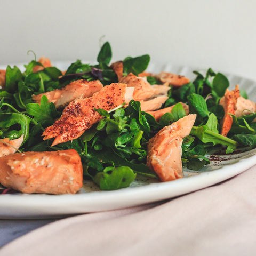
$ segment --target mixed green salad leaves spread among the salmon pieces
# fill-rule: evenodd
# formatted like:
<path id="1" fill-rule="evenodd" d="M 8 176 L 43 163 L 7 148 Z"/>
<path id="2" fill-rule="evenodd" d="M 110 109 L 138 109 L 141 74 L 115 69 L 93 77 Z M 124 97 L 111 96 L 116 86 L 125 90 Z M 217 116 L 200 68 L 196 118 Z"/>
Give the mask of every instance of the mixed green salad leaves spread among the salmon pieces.
<path id="1" fill-rule="evenodd" d="M 189 113 L 196 114 L 196 122 L 190 135 L 183 139 L 182 165 L 191 171 L 198 171 L 210 164 L 206 157 L 209 150 L 224 149 L 227 154 L 237 148 L 250 150 L 256 147 L 256 123 L 252 122 L 256 113 L 233 117 L 233 124 L 227 137 L 220 134 L 220 120 L 225 111 L 219 104 L 229 87 L 227 77 L 209 68 L 206 74 L 194 71 L 195 79 L 181 87 L 170 86 L 168 99 L 162 106 L 175 107 L 164 114 L 159 121 L 141 111 L 140 102 L 131 100 L 129 105 L 120 106 L 107 112 L 97 109 L 103 117 L 83 135 L 73 141 L 51 147 L 52 140 L 43 140 L 42 132 L 61 116 L 61 111 L 45 96 L 41 104 L 34 103 L 34 94 L 60 89 L 77 79 L 92 81 L 99 79 L 103 85 L 118 83 L 114 70 L 110 67 L 112 51 L 110 44 L 102 45 L 97 57 L 98 64 L 90 65 L 77 60 L 67 68 L 65 74 L 57 67 L 46 67 L 33 72 L 35 66 L 42 66 L 31 60 L 25 71 L 17 66 L 6 68 L 6 84 L 0 89 L 0 139 L 17 139 L 22 134 L 24 140 L 19 148 L 25 151 L 53 151 L 75 149 L 81 156 L 84 179 L 91 179 L 103 190 L 128 187 L 138 175 L 158 179 L 146 166 L 147 143 L 164 126 L 186 116 L 181 103 L 189 106 Z M 149 55 L 126 57 L 123 60 L 123 76 L 138 75 L 145 71 L 150 61 Z M 154 76 L 147 81 L 161 84 Z M 240 94 L 246 99 L 244 91 Z"/>

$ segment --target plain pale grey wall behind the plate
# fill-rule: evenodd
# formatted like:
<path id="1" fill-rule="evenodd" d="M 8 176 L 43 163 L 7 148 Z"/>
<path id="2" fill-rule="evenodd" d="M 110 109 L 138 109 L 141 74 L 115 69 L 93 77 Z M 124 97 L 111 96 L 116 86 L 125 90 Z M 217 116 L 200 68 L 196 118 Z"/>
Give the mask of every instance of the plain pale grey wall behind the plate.
<path id="1" fill-rule="evenodd" d="M 256 80 L 256 1 L 0 0 L 0 65 L 37 57 L 95 60 L 105 35 L 114 59 L 227 71 Z"/>

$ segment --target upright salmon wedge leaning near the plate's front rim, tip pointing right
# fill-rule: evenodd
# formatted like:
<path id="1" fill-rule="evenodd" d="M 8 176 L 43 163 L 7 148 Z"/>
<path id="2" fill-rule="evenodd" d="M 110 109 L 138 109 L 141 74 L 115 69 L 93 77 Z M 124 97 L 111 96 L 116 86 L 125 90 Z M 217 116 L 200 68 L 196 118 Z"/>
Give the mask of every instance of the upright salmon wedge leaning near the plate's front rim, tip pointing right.
<path id="1" fill-rule="evenodd" d="M 161 181 L 183 177 L 182 141 L 188 136 L 196 120 L 195 114 L 179 119 L 165 126 L 148 142 L 146 165 L 158 175 Z"/>

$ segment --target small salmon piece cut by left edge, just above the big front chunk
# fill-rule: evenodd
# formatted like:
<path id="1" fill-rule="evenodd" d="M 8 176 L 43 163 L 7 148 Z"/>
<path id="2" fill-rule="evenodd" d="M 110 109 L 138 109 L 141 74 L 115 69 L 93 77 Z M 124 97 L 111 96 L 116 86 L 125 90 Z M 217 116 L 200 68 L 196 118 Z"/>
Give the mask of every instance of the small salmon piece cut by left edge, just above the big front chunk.
<path id="1" fill-rule="evenodd" d="M 0 157 L 14 154 L 21 146 L 23 138 L 24 135 L 22 134 L 20 138 L 15 140 L 9 140 L 9 138 L 0 139 Z"/>

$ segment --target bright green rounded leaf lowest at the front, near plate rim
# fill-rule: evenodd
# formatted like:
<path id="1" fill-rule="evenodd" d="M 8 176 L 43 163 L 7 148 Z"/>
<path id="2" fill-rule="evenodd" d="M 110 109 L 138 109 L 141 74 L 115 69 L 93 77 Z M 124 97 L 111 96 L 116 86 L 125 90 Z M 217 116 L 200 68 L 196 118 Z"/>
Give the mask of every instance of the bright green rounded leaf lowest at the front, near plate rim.
<path id="1" fill-rule="evenodd" d="M 97 173 L 93 181 L 99 185 L 102 190 L 114 190 L 129 187 L 134 181 L 136 174 L 127 166 L 120 166 L 112 170 Z"/>

